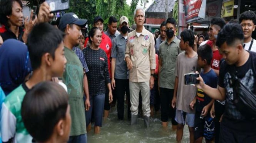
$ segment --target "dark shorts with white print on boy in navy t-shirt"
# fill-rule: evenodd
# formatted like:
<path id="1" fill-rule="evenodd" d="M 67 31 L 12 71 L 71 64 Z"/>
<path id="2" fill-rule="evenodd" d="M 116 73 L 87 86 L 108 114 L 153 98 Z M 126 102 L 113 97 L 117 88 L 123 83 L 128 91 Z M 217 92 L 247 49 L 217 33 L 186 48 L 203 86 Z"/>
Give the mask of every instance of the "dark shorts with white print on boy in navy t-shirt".
<path id="1" fill-rule="evenodd" d="M 195 114 L 195 133 L 194 139 L 204 137 L 207 141 L 212 141 L 214 138 L 214 120 L 210 114 L 206 117 L 201 115 L 201 112 Z"/>

